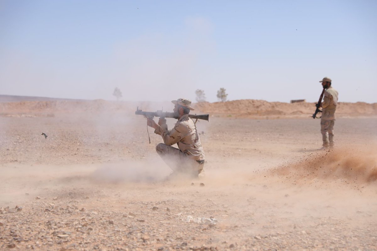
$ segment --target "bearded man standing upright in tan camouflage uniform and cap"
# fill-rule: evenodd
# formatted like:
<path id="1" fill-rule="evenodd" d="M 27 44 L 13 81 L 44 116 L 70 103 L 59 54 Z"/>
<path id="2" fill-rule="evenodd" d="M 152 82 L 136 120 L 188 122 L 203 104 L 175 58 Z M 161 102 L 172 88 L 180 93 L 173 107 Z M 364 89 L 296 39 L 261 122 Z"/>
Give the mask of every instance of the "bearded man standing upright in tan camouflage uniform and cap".
<path id="1" fill-rule="evenodd" d="M 334 146 L 334 122 L 335 122 L 335 110 L 338 102 L 338 92 L 331 86 L 331 79 L 325 77 L 322 81 L 325 93 L 323 97 L 322 117 L 321 117 L 321 133 L 323 140 L 323 148 Z"/>

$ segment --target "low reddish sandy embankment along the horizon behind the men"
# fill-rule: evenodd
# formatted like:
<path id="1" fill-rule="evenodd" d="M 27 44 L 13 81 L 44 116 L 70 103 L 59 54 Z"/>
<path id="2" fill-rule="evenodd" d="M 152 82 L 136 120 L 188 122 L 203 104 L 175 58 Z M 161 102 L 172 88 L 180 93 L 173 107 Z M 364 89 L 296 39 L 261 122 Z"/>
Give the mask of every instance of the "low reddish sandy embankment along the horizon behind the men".
<path id="1" fill-rule="evenodd" d="M 2 101 L 3 100 L 3 101 Z M 11 101 L 9 101 L 11 100 Z M 193 113 L 206 113 L 210 117 L 236 117 L 250 119 L 308 118 L 315 111 L 315 102 L 268 102 L 265 100 L 242 99 L 225 102 L 196 102 Z M 136 108 L 143 111 L 172 111 L 170 101 L 125 101 L 125 100 L 76 100 L 44 97 L 0 95 L 0 113 L 3 116 L 53 116 L 54 112 L 107 111 L 112 113 L 135 113 Z M 48 114 L 46 114 L 48 113 Z M 18 114 L 18 115 L 17 115 Z M 377 103 L 339 102 L 337 117 L 374 117 Z M 320 116 L 320 114 L 318 115 Z"/>

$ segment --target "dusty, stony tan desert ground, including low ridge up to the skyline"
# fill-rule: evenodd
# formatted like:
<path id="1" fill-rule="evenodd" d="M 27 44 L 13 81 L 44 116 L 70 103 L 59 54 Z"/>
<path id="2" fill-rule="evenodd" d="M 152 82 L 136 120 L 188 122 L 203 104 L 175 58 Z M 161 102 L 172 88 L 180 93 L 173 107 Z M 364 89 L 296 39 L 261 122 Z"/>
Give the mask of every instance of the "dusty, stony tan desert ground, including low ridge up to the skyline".
<path id="1" fill-rule="evenodd" d="M 376 103 L 339 103 L 328 150 L 314 103 L 197 103 L 206 176 L 168 181 L 136 106 L 173 109 L 0 102 L 1 250 L 377 249 Z"/>

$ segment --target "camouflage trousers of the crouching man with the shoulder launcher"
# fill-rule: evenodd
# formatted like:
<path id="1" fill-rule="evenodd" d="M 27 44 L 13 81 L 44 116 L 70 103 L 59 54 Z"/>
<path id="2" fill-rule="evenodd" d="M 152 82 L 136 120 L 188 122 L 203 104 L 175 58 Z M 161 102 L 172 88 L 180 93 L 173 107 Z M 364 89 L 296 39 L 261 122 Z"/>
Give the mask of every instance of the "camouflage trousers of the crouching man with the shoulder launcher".
<path id="1" fill-rule="evenodd" d="M 173 172 L 187 173 L 198 177 L 198 174 L 204 169 L 204 160 L 193 160 L 178 148 L 165 145 L 164 143 L 159 143 L 156 146 L 156 152 Z"/>

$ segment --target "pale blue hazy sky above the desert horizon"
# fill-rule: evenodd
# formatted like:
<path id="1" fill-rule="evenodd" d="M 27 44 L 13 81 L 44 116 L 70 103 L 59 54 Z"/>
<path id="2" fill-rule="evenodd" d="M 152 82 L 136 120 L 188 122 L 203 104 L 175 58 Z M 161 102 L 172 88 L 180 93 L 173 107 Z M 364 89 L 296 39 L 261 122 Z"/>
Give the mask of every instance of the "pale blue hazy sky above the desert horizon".
<path id="1" fill-rule="evenodd" d="M 0 0 L 0 94 L 377 102 L 377 1 Z"/>

